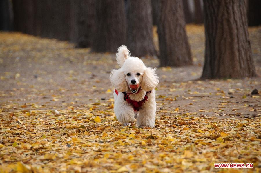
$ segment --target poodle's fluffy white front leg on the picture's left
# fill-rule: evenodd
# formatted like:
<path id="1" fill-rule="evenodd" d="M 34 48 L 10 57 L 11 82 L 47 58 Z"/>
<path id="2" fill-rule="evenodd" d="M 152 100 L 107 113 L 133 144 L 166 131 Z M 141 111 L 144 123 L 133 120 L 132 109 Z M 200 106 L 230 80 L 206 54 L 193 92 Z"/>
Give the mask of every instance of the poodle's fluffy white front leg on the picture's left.
<path id="1" fill-rule="evenodd" d="M 131 125 L 134 121 L 133 108 L 123 99 L 123 94 L 119 93 L 114 104 L 114 113 L 118 121 L 124 126 Z"/>

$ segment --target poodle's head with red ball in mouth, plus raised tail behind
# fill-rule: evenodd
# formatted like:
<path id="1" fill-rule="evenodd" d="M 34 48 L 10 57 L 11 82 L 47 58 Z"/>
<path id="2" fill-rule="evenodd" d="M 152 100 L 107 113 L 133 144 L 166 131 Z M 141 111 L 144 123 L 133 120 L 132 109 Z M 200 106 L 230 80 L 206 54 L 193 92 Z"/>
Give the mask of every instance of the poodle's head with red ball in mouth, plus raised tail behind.
<path id="1" fill-rule="evenodd" d="M 121 68 L 112 70 L 110 81 L 119 92 L 130 90 L 135 94 L 139 88 L 150 91 L 157 86 L 159 77 L 155 73 L 156 68 L 146 67 L 141 59 L 131 57 L 126 46 L 118 48 L 116 59 Z"/>

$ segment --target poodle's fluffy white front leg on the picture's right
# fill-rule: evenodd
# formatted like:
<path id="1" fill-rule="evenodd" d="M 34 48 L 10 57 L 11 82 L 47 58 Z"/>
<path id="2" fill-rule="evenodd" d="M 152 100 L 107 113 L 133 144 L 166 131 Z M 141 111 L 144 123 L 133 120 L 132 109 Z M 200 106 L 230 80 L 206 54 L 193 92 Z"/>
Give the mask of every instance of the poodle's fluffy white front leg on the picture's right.
<path id="1" fill-rule="evenodd" d="M 156 116 L 156 101 L 155 101 L 155 91 L 153 90 L 151 94 L 149 94 L 148 101 L 146 101 L 144 103 L 143 108 L 139 110 L 137 125 L 140 128 L 154 127 L 155 116 Z"/>

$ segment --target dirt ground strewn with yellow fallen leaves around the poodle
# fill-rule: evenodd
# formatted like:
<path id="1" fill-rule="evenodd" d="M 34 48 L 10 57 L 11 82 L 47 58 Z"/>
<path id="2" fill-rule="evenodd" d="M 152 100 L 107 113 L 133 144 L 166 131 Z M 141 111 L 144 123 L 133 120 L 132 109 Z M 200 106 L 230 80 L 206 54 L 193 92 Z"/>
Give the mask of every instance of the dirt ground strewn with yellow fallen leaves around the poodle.
<path id="1" fill-rule="evenodd" d="M 119 68 L 115 54 L 0 32 L 0 172 L 260 172 L 261 100 L 251 94 L 260 77 L 199 80 L 204 28 L 186 30 L 194 65 L 157 69 L 155 128 L 116 120 L 108 79 Z M 261 27 L 249 34 L 260 76 Z"/>

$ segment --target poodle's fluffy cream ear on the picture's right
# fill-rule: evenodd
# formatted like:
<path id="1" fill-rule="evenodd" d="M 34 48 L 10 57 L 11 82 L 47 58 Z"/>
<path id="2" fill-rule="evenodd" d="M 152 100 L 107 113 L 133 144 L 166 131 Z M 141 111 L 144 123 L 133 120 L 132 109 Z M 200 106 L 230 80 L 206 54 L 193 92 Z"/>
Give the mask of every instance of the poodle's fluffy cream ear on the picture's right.
<path id="1" fill-rule="evenodd" d="M 146 67 L 141 82 L 141 88 L 145 91 L 153 90 L 159 83 L 159 77 L 155 73 L 156 68 Z"/>

